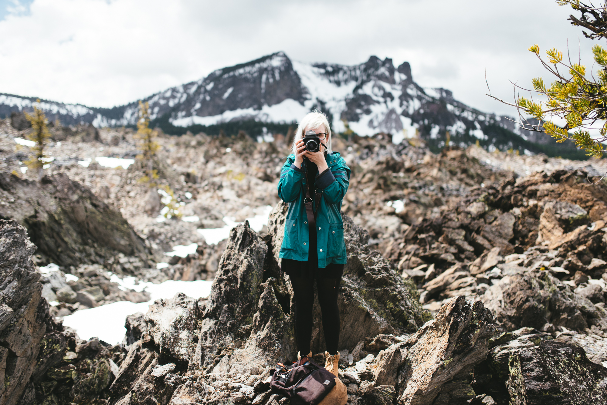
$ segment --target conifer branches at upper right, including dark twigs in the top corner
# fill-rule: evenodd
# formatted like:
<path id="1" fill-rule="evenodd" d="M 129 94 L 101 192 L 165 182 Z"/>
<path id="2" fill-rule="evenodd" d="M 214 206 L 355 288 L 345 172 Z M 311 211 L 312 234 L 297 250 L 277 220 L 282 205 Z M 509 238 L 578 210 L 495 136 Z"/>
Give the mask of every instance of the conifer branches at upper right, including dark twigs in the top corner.
<path id="1" fill-rule="evenodd" d="M 571 15 L 569 20 L 572 25 L 587 28 L 590 33 L 583 33 L 590 39 L 607 38 L 607 0 L 600 3 L 600 7 L 595 7 L 579 0 L 557 0 L 558 5 L 571 5 L 582 13 L 580 18 Z M 541 58 L 538 45 L 532 45 L 529 51 L 537 56 L 554 81 L 546 84 L 543 78 L 532 79 L 533 89 L 528 90 L 531 98 L 517 96 L 514 104 L 489 96 L 517 107 L 521 128 L 547 133 L 557 142 L 572 141 L 588 152 L 587 156 L 601 158 L 607 152 L 603 144 L 607 141 L 607 50 L 600 45 L 592 47 L 594 62 L 599 66 L 595 75 L 586 72 L 581 60 L 571 62 L 569 56 L 564 60 L 563 53 L 557 49 L 546 51 L 547 60 Z M 540 96 L 539 101 L 534 99 L 534 94 L 536 99 Z M 523 113 L 537 119 L 537 124 L 523 118 Z M 552 122 L 555 118 L 563 119 L 566 124 L 558 126 Z M 591 129 L 599 129 L 600 135 L 593 138 Z"/>

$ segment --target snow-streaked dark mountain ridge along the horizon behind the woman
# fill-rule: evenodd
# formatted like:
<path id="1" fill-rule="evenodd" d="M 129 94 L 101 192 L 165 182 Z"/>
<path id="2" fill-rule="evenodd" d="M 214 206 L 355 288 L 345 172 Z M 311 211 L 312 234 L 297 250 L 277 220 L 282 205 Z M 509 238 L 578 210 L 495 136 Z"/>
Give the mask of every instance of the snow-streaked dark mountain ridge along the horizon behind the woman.
<path id="1" fill-rule="evenodd" d="M 0 94 L 0 116 L 31 109 L 34 101 Z M 395 67 L 392 59 L 375 56 L 348 66 L 305 64 L 277 52 L 215 70 L 143 101 L 150 104 L 152 122 L 167 133 L 244 129 L 263 136 L 268 135 L 264 124 L 288 126 L 316 108 L 327 113 L 334 132 L 347 132 L 348 126 L 358 135 L 388 133 L 395 142 L 420 137 L 433 152 L 447 141 L 459 147 L 478 142 L 489 152 L 515 149 L 583 158 L 571 144 L 555 144 L 544 134 L 473 109 L 449 90 L 423 89 L 413 81 L 409 62 Z M 100 109 L 42 101 L 41 108 L 64 124 L 88 122 L 96 127 L 134 126 L 138 114 L 137 102 Z M 286 127 L 282 131 L 287 132 Z"/>

